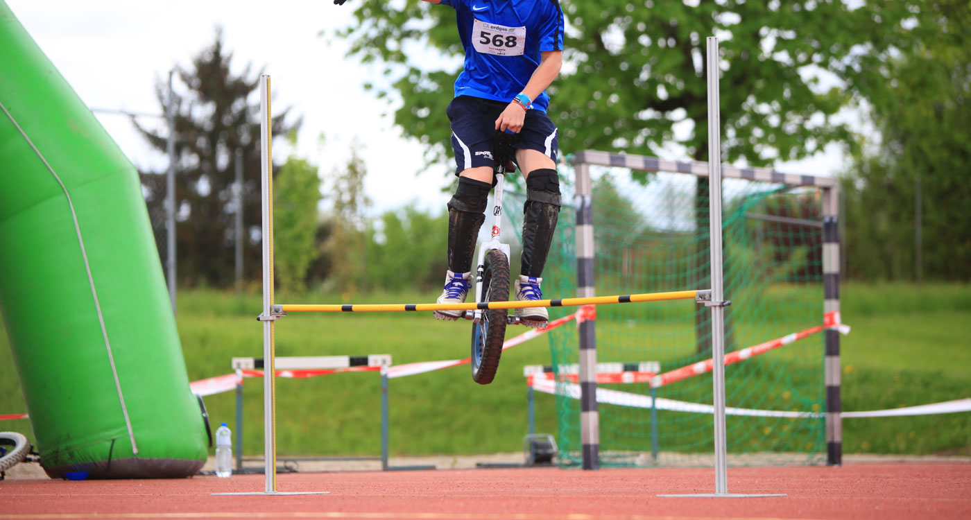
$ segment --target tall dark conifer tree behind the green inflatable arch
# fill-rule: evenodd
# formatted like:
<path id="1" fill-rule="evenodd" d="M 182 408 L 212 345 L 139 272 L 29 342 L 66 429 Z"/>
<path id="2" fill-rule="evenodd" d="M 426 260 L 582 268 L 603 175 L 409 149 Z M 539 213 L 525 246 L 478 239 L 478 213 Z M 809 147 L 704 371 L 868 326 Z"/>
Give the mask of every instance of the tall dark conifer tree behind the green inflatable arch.
<path id="1" fill-rule="evenodd" d="M 243 200 L 245 265 L 259 276 L 261 265 L 259 101 L 251 103 L 259 86 L 259 74 L 248 66 L 241 75 L 230 70 L 232 53 L 223 48 L 217 30 L 212 46 L 192 59 L 188 68 L 179 67 L 178 77 L 187 87 L 175 94 L 176 205 L 179 278 L 188 285 L 232 283 L 235 233 L 232 186 L 235 182 L 233 155 L 243 150 Z M 164 111 L 168 89 L 161 81 L 155 94 Z M 273 117 L 274 136 L 286 135 L 300 126 L 285 122 L 288 111 Z M 167 135 L 135 126 L 146 140 L 165 152 Z M 164 132 L 164 131 L 163 131 Z M 143 190 L 152 221 L 164 221 L 165 170 L 142 172 Z M 162 248 L 164 250 L 164 248 Z"/>

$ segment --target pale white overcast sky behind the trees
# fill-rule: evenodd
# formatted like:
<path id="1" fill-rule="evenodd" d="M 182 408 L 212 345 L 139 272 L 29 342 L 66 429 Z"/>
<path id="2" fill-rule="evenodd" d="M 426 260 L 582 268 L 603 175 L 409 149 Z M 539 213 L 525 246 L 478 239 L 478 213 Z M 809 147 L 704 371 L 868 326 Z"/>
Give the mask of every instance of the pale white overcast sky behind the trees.
<path id="1" fill-rule="evenodd" d="M 352 0 L 353 1 L 353 0 Z M 221 26 L 237 73 L 247 64 L 272 77 L 274 108 L 291 108 L 304 124 L 297 152 L 326 173 L 343 165 L 357 140 L 368 171 L 365 189 L 372 213 L 416 202 L 445 207 L 452 164 L 424 168 L 420 146 L 393 127 L 391 109 L 361 85 L 377 70 L 346 58 L 347 45 L 333 37 L 352 23 L 351 5 L 331 0 L 6 0 L 54 66 L 92 109 L 159 113 L 155 81 L 215 40 Z M 318 35 L 324 31 L 325 36 Z M 164 168 L 167 160 L 147 146 L 123 115 L 97 114 L 118 146 L 140 167 Z M 445 114 L 441 114 L 445 117 Z M 151 124 L 151 119 L 144 119 Z M 324 134 L 324 146 L 318 136 Z M 285 152 L 284 147 L 280 147 Z M 277 152 L 278 148 L 274 148 Z M 275 153 L 279 164 L 285 160 Z M 676 157 L 671 157 L 676 158 Z M 808 161 L 781 165 L 798 173 L 832 175 L 835 150 Z M 326 188 L 326 187 L 325 187 Z"/>

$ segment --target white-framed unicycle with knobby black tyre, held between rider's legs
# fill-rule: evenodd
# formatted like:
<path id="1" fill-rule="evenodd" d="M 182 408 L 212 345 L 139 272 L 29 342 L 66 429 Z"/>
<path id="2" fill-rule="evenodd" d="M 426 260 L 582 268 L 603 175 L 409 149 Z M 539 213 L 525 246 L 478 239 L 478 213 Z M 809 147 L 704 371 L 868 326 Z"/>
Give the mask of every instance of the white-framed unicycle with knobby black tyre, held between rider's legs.
<path id="1" fill-rule="evenodd" d="M 513 156 L 516 134 L 496 132 L 492 154 L 495 187 L 492 190 L 492 233 L 488 242 L 479 244 L 476 271 L 476 303 L 509 301 L 509 244 L 499 242 L 502 221 L 502 191 L 506 165 Z M 472 319 L 472 379 L 488 384 L 495 377 L 506 341 L 506 309 L 476 309 L 466 312 Z"/>

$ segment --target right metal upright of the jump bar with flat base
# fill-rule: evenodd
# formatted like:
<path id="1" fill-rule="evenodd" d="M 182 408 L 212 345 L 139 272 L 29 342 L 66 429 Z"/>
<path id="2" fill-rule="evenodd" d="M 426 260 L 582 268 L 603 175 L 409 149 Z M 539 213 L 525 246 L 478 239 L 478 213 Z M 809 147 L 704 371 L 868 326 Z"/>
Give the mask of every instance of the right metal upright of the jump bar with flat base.
<path id="1" fill-rule="evenodd" d="M 727 441 L 725 434 L 724 300 L 721 273 L 721 116 L 719 114 L 719 39 L 708 38 L 708 185 L 712 257 L 712 394 L 715 406 L 715 493 L 658 495 L 658 497 L 785 497 L 786 495 L 739 495 L 728 493 Z"/>

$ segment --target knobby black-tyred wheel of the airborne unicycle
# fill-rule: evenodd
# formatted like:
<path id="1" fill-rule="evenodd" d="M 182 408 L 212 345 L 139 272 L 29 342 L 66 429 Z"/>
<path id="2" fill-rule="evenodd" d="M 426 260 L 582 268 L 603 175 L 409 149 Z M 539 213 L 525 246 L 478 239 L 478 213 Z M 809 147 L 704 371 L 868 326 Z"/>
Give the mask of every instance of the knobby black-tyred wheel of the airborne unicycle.
<path id="1" fill-rule="evenodd" d="M 484 302 L 509 300 L 509 259 L 498 249 L 485 253 Z M 483 319 L 472 326 L 472 379 L 488 384 L 499 368 L 502 343 L 506 341 L 506 309 L 485 309 Z"/>

